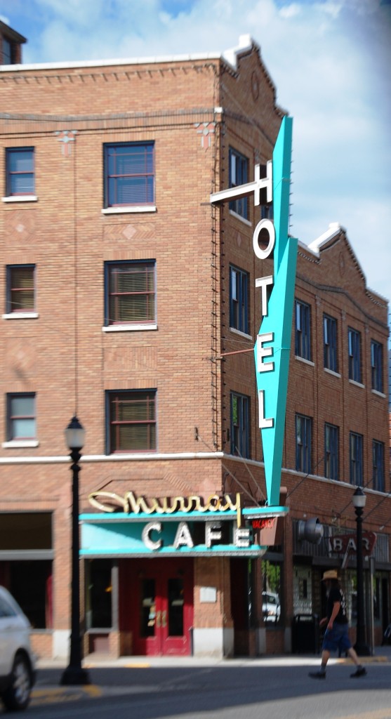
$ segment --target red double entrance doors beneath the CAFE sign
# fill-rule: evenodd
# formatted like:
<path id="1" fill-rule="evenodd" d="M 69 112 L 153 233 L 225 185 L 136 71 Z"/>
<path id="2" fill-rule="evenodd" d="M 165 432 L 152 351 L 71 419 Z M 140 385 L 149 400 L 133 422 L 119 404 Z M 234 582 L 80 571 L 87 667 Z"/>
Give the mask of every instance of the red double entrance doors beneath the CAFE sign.
<path id="1" fill-rule="evenodd" d="M 190 654 L 193 560 L 132 560 L 122 565 L 126 579 L 121 582 L 121 625 L 132 631 L 133 654 Z"/>

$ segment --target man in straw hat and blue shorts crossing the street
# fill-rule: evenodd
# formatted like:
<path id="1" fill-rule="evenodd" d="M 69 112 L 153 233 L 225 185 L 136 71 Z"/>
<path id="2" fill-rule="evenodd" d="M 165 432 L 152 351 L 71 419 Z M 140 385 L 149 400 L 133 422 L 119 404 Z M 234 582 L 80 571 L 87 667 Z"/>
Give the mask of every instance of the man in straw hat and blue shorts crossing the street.
<path id="1" fill-rule="evenodd" d="M 327 572 L 324 572 L 322 582 L 326 583 L 327 616 L 323 617 L 319 624 L 320 626 L 327 624 L 327 627 L 323 637 L 321 669 L 318 672 L 310 672 L 309 676 L 313 679 L 325 679 L 326 666 L 331 651 L 339 649 L 340 653 L 342 651 L 347 652 L 351 661 L 356 664 L 357 669 L 350 676 L 364 677 L 367 674 L 367 669 L 360 664 L 349 639 L 346 601 L 339 584 L 336 569 L 328 569 Z"/>

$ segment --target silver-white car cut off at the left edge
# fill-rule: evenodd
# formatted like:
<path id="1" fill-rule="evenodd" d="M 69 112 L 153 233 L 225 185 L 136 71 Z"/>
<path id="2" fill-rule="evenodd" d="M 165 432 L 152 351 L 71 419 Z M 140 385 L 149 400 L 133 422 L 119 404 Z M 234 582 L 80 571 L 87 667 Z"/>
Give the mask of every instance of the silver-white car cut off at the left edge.
<path id="1" fill-rule="evenodd" d="M 6 709 L 25 709 L 35 682 L 30 623 L 5 587 L 0 587 L 0 697 Z"/>

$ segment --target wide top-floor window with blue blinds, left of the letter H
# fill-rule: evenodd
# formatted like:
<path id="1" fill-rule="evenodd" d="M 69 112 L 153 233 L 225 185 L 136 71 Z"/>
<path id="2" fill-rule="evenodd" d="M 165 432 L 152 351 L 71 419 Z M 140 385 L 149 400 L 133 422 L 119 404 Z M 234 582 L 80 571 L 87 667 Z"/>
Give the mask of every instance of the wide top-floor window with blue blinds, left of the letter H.
<path id="1" fill-rule="evenodd" d="M 155 201 L 153 142 L 105 145 L 105 207 Z"/>

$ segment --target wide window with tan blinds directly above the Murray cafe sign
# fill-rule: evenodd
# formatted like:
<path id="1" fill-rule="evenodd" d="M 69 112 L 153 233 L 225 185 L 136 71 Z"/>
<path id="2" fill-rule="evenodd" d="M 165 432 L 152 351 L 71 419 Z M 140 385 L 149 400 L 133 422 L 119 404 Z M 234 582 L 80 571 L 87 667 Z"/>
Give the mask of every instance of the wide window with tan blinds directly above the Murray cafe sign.
<path id="1" fill-rule="evenodd" d="M 156 390 L 108 392 L 108 452 L 156 449 Z"/>

